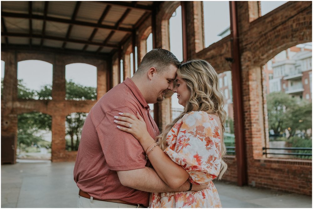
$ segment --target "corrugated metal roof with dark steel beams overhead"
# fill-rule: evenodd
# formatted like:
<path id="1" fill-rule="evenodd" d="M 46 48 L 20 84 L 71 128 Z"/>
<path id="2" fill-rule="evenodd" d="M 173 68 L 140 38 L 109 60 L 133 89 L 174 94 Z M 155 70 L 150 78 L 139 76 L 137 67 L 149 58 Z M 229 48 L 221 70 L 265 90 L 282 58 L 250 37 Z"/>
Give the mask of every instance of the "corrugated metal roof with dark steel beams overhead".
<path id="1" fill-rule="evenodd" d="M 2 1 L 1 43 L 7 48 L 25 45 L 110 53 L 151 12 L 151 5 L 153 1 Z"/>

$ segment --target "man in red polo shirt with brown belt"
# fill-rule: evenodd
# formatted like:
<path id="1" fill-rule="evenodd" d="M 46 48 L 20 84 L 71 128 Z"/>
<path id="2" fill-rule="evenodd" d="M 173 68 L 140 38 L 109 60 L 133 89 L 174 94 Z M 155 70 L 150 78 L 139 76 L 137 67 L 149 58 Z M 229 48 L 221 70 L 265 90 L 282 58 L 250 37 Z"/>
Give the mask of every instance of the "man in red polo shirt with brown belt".
<path id="1" fill-rule="evenodd" d="M 136 115 L 138 111 L 151 137 L 159 135 L 148 103 L 162 102 L 165 93 L 173 90 L 179 66 L 171 52 L 154 49 L 143 57 L 132 78 L 112 88 L 92 107 L 74 167 L 74 181 L 80 188 L 78 207 L 147 207 L 149 192 L 189 189 L 189 182 L 180 188 L 167 186 L 149 167 L 140 143 L 114 123 L 119 112 Z"/>

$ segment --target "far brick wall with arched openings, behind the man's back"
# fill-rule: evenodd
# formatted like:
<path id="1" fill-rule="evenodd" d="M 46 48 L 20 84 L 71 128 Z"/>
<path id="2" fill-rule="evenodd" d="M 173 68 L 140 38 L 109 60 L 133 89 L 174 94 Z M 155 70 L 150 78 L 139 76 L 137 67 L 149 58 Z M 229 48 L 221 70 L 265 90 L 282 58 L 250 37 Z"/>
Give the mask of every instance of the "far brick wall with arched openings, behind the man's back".
<path id="1" fill-rule="evenodd" d="M 99 99 L 107 91 L 107 62 L 104 59 L 93 57 L 26 51 L 4 51 L 1 52 L 1 59 L 5 62 L 3 97 L 1 98 L 1 136 L 15 136 L 15 140 L 17 140 L 19 114 L 33 111 L 49 114 L 52 116 L 52 161 L 74 161 L 77 152 L 65 150 L 65 117 L 71 112 L 89 112 L 96 101 L 65 100 L 65 65 L 80 62 L 96 66 Z M 30 59 L 53 64 L 52 100 L 17 98 L 17 63 Z M 4 148 L 2 147 L 2 149 Z M 16 154 L 16 150 L 14 154 Z"/>

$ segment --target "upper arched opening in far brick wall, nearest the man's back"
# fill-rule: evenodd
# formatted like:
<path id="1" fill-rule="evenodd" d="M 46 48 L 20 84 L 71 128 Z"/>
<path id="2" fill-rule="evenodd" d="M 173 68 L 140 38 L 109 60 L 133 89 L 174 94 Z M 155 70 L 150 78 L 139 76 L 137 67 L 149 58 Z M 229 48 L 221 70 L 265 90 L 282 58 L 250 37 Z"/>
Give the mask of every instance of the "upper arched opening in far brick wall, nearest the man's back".
<path id="1" fill-rule="evenodd" d="M 85 63 L 65 66 L 66 100 L 97 99 L 97 67 Z"/>

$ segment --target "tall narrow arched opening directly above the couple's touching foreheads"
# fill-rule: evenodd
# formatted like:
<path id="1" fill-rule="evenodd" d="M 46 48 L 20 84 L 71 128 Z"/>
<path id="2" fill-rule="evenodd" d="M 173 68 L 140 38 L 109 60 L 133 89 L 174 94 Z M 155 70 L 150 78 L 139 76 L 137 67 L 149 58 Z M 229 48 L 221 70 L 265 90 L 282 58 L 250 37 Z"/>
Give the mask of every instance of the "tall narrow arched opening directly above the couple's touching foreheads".
<path id="1" fill-rule="evenodd" d="M 169 25 L 171 52 L 182 62 L 182 6 L 177 7 L 173 12 Z"/>

